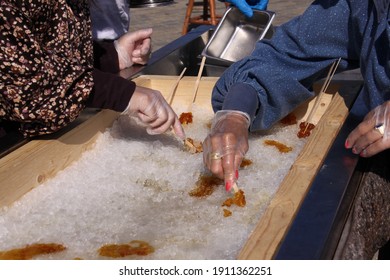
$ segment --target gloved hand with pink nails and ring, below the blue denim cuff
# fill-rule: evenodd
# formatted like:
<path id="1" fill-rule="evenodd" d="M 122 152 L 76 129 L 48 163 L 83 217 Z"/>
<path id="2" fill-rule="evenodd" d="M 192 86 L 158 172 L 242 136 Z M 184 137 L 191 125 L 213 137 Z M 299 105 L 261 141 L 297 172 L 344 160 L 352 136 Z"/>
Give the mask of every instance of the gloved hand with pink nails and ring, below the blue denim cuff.
<path id="1" fill-rule="evenodd" d="M 238 168 L 249 149 L 249 116 L 240 111 L 218 111 L 210 134 L 203 142 L 203 162 L 230 191 L 238 179 Z"/>

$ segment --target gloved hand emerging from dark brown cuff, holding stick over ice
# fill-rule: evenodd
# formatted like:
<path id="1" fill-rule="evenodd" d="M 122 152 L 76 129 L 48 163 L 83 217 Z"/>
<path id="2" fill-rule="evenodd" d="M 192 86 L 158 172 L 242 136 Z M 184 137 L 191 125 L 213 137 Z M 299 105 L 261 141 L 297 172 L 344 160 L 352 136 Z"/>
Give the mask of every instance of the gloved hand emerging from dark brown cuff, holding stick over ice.
<path id="1" fill-rule="evenodd" d="M 137 86 L 124 113 L 137 117 L 151 135 L 164 133 L 172 127 L 179 138 L 185 139 L 179 118 L 157 90 Z"/>

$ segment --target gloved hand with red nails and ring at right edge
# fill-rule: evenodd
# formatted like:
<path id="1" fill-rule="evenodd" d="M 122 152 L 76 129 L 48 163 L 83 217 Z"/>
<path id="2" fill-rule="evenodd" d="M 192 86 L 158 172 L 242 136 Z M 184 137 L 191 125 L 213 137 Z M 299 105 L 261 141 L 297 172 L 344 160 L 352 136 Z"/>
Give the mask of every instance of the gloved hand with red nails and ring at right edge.
<path id="1" fill-rule="evenodd" d="M 370 157 L 390 148 L 390 101 L 369 112 L 364 120 L 348 135 L 347 149 L 354 154 Z"/>

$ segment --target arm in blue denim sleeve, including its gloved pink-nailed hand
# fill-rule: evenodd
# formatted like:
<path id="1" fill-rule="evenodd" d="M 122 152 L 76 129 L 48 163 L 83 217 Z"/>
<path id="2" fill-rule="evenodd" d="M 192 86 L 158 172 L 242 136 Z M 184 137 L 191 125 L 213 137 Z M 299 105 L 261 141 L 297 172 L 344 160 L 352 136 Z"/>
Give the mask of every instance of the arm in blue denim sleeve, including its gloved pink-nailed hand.
<path id="1" fill-rule="evenodd" d="M 333 61 L 341 57 L 342 69 L 358 61 L 358 51 L 348 41 L 348 13 L 344 1 L 314 2 L 218 80 L 212 93 L 218 125 L 204 141 L 203 159 L 212 173 L 224 178 L 227 190 L 248 150 L 248 125 L 253 131 L 270 128 L 312 97 L 308 88 Z M 223 118 L 219 112 L 225 112 Z M 221 152 L 218 160 L 211 156 Z"/>

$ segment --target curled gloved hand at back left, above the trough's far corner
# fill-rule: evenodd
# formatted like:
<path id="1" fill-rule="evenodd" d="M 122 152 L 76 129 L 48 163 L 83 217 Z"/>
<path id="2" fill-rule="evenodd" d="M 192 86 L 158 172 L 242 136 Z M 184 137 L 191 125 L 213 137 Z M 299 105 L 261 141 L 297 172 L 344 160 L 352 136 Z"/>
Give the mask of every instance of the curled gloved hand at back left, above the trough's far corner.
<path id="1" fill-rule="evenodd" d="M 133 64 L 146 64 L 152 51 L 152 28 L 127 32 L 114 41 L 118 52 L 119 69 L 123 70 Z"/>

